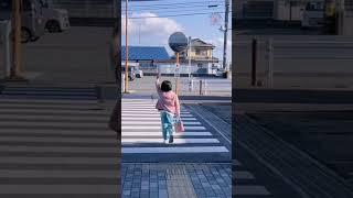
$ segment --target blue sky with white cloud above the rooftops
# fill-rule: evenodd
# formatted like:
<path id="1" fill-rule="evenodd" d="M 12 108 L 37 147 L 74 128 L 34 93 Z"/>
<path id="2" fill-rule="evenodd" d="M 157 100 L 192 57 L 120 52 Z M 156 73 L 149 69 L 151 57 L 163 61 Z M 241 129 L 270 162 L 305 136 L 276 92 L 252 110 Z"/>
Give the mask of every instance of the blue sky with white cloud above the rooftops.
<path id="1" fill-rule="evenodd" d="M 222 59 L 224 13 L 218 13 L 220 23 L 212 24 L 212 14 L 224 12 L 224 0 L 159 0 L 148 2 L 129 2 L 129 45 L 165 46 L 168 52 L 168 37 L 175 31 L 182 31 L 186 36 L 199 37 L 216 46 L 214 56 Z M 208 8 L 208 6 L 217 6 Z M 229 7 L 232 8 L 232 6 Z M 192 15 L 180 15 L 192 14 Z M 125 1 L 121 2 L 122 35 L 125 45 Z M 179 16 L 175 16 L 179 15 Z M 158 18 L 156 18 L 158 16 Z M 142 18 L 142 19 L 141 19 Z M 229 20 L 231 20 L 229 14 Z M 231 29 L 231 22 L 228 28 Z M 232 31 L 228 31 L 227 59 L 231 62 Z"/>

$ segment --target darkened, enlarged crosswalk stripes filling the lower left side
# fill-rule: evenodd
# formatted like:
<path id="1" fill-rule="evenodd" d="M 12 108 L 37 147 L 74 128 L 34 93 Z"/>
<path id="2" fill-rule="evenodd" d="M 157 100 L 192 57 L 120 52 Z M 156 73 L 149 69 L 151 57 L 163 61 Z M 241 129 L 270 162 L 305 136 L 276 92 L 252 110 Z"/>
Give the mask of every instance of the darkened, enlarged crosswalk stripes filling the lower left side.
<path id="1" fill-rule="evenodd" d="M 116 197 L 110 112 L 94 89 L 6 88 L 0 95 L 0 197 Z"/>

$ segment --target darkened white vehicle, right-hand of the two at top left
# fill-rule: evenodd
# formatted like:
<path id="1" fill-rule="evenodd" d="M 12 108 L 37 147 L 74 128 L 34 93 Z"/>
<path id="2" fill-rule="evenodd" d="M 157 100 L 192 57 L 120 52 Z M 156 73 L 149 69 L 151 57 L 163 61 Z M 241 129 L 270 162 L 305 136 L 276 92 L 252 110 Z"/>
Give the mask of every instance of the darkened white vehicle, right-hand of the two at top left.
<path id="1" fill-rule="evenodd" d="M 42 14 L 45 18 L 45 29 L 50 33 L 63 32 L 69 29 L 68 12 L 64 9 L 53 9 L 47 0 L 40 0 Z"/>

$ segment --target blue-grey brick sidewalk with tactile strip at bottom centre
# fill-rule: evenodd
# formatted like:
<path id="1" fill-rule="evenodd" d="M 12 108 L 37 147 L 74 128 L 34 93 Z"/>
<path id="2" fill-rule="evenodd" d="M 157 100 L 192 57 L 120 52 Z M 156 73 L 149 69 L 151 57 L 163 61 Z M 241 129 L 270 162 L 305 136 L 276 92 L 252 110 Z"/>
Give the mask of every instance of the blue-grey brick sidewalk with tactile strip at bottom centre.
<path id="1" fill-rule="evenodd" d="M 125 198 L 227 198 L 229 164 L 122 164 Z"/>

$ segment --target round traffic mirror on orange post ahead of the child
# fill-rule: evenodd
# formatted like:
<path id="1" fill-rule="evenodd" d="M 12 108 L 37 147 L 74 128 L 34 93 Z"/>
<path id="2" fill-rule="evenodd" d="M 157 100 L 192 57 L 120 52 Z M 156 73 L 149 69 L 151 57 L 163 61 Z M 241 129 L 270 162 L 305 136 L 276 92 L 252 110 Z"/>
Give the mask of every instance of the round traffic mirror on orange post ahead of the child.
<path id="1" fill-rule="evenodd" d="M 175 32 L 169 36 L 169 46 L 172 51 L 175 52 L 175 59 L 176 59 L 176 66 L 174 72 L 176 95 L 179 95 L 179 78 L 180 78 L 179 55 L 181 52 L 186 50 L 188 44 L 189 44 L 188 37 L 182 32 Z"/>

